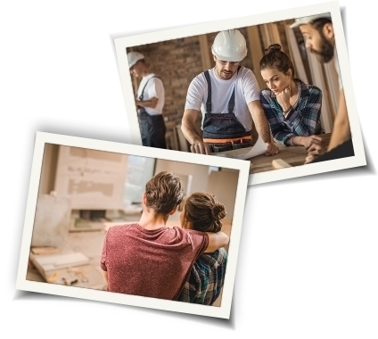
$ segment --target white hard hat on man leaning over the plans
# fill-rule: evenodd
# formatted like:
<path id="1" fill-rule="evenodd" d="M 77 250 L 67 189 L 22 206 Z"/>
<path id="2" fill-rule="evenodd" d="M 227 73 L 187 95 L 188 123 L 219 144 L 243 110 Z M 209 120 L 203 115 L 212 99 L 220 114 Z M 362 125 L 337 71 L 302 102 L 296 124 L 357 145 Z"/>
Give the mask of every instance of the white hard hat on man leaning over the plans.
<path id="1" fill-rule="evenodd" d="M 225 62 L 241 62 L 247 55 L 247 43 L 238 29 L 222 30 L 215 37 L 211 52 Z"/>

